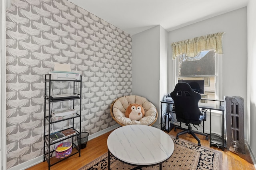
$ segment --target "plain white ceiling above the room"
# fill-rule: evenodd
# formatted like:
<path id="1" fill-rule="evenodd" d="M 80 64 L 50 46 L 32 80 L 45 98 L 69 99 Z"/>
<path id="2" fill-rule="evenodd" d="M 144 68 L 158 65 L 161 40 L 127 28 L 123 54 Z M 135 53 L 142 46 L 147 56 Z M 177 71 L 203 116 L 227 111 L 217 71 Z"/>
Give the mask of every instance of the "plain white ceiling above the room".
<path id="1" fill-rule="evenodd" d="M 247 6 L 248 0 L 69 0 L 134 35 L 156 25 L 167 31 Z"/>

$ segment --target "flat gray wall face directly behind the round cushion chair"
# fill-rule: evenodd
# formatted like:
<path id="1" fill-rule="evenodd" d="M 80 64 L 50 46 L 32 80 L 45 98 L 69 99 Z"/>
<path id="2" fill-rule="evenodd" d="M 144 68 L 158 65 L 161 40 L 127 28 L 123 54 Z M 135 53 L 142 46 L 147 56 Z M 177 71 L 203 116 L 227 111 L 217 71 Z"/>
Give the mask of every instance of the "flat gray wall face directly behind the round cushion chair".
<path id="1" fill-rule="evenodd" d="M 160 79 L 160 27 L 132 35 L 132 94 L 158 106 Z"/>

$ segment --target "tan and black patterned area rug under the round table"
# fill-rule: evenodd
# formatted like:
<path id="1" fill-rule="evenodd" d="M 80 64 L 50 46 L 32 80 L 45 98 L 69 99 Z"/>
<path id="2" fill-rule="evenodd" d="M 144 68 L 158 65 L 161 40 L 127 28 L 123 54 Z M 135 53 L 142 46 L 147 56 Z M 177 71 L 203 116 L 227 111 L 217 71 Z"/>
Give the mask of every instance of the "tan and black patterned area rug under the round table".
<path id="1" fill-rule="evenodd" d="M 222 152 L 199 147 L 182 139 L 171 136 L 174 142 L 172 156 L 162 164 L 162 170 L 222 170 Z M 134 166 L 124 164 L 110 156 L 111 170 L 130 170 Z M 107 170 L 108 153 L 80 168 L 80 170 Z M 143 167 L 142 170 L 159 170 L 159 165 Z"/>

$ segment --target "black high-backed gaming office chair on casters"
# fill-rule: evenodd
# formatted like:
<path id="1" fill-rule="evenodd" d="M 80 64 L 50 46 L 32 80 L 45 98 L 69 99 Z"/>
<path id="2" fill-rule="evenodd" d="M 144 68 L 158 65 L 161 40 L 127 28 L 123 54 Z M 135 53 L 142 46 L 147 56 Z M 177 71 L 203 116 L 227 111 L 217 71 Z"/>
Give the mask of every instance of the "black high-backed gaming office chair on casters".
<path id="1" fill-rule="evenodd" d="M 174 127 L 174 131 L 177 129 L 182 129 L 184 131 L 177 134 L 176 139 L 179 139 L 179 135 L 189 133 L 198 141 L 198 146 L 201 146 L 200 139 L 195 135 L 195 133 L 206 136 L 208 140 L 208 135 L 206 133 L 192 131 L 190 124 L 200 125 L 202 121 L 206 120 L 206 111 L 200 111 L 198 107 L 198 102 L 201 99 L 201 95 L 194 92 L 188 83 L 178 83 L 176 84 L 174 91 L 171 92 L 171 97 L 174 101 L 174 111 L 176 113 L 176 119 L 178 122 L 185 123 L 188 129 L 182 127 Z M 197 127 L 195 127 L 198 129 Z M 204 125 L 203 125 L 204 128 Z"/>

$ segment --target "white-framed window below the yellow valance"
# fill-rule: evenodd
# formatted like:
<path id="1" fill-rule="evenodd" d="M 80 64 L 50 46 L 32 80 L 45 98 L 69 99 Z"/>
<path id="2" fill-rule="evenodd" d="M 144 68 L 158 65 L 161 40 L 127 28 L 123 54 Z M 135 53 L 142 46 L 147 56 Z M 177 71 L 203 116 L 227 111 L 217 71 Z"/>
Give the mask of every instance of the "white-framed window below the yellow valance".
<path id="1" fill-rule="evenodd" d="M 176 83 L 178 80 L 204 80 L 202 98 L 218 99 L 218 56 L 213 50 L 201 51 L 195 57 L 179 55 L 176 57 Z"/>

